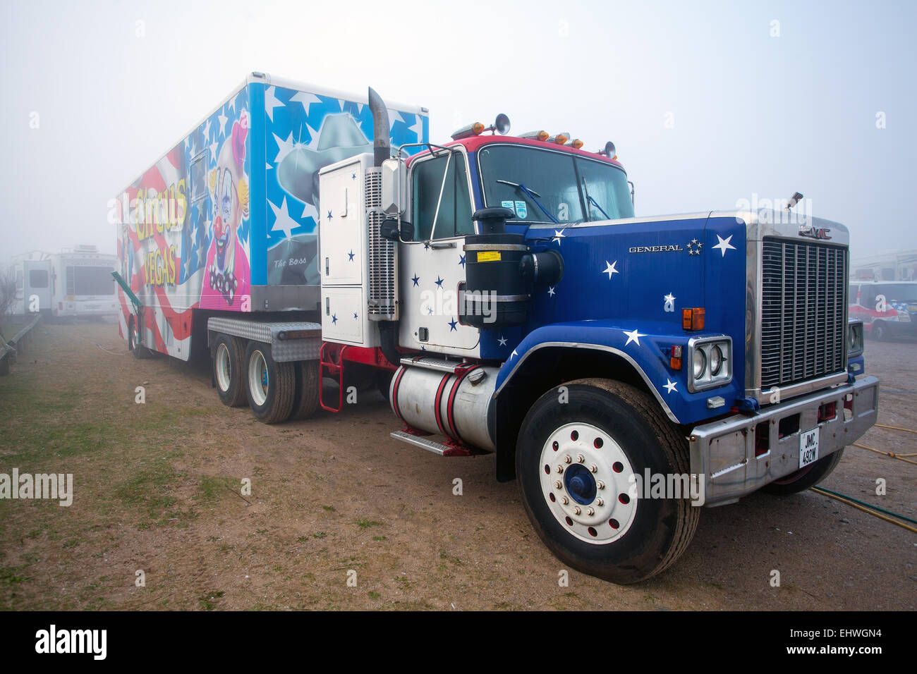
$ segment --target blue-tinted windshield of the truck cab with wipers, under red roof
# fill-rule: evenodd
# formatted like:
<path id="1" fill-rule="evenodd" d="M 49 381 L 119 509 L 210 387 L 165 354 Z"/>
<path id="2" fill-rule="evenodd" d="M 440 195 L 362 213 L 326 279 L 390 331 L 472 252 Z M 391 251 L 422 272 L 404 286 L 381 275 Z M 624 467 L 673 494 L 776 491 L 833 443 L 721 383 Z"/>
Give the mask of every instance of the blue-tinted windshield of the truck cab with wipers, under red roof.
<path id="1" fill-rule="evenodd" d="M 521 145 L 479 150 L 484 200 L 525 222 L 634 217 L 627 176 L 599 160 Z"/>

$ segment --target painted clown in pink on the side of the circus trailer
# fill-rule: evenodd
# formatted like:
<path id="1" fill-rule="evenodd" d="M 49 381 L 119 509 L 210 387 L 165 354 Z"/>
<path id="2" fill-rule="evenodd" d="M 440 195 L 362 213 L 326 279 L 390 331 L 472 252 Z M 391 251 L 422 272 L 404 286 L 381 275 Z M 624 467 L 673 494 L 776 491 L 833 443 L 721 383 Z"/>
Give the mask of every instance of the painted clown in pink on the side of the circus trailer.
<path id="1" fill-rule="evenodd" d="M 245 139 L 249 115 L 242 110 L 223 142 L 216 167 L 207 176 L 212 206 L 212 243 L 207 253 L 207 288 L 215 307 L 232 306 L 249 294 L 249 260 L 238 231 L 249 218 L 249 179 L 245 174 Z M 215 303 L 213 302 L 215 300 Z"/>

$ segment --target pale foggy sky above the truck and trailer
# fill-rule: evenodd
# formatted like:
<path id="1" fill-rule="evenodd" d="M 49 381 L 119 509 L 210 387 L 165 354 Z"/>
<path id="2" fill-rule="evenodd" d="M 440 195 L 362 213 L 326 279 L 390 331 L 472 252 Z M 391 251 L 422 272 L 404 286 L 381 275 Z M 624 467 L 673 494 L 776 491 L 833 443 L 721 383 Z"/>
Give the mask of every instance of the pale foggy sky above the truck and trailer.
<path id="1" fill-rule="evenodd" d="M 611 139 L 637 215 L 799 190 L 855 258 L 917 248 L 915 3 L 3 6 L 4 264 L 115 252 L 108 200 L 250 71 L 424 105 L 433 141 L 498 112 L 512 133 Z"/>

